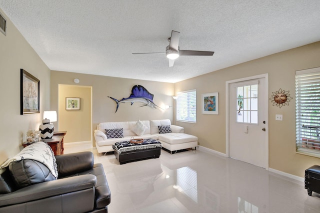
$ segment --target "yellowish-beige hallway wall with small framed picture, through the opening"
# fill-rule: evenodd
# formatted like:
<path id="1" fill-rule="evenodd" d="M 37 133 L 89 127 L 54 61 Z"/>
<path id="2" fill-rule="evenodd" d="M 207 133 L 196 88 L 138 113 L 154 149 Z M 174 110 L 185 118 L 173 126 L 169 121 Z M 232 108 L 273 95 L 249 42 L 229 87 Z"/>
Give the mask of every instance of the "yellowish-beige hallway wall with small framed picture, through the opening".
<path id="1" fill-rule="evenodd" d="M 79 110 L 66 110 L 66 97 L 79 97 Z M 64 142 L 91 141 L 91 86 L 58 85 L 58 126 Z"/>

